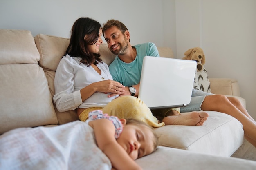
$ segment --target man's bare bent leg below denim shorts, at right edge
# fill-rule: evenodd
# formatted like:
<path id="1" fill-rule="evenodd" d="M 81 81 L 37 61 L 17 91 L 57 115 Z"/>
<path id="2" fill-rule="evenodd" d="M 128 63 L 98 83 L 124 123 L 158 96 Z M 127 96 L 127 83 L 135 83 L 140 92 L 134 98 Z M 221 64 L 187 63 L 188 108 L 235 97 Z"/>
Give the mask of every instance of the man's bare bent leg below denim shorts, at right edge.
<path id="1" fill-rule="evenodd" d="M 225 95 L 209 95 L 205 97 L 201 109 L 226 113 L 238 119 L 243 124 L 245 137 L 256 147 L 256 123 L 254 119 L 247 111 L 245 112 L 242 106 L 236 103 L 237 108 L 230 100 L 233 103 L 237 102 L 234 99 L 227 98 Z"/>

